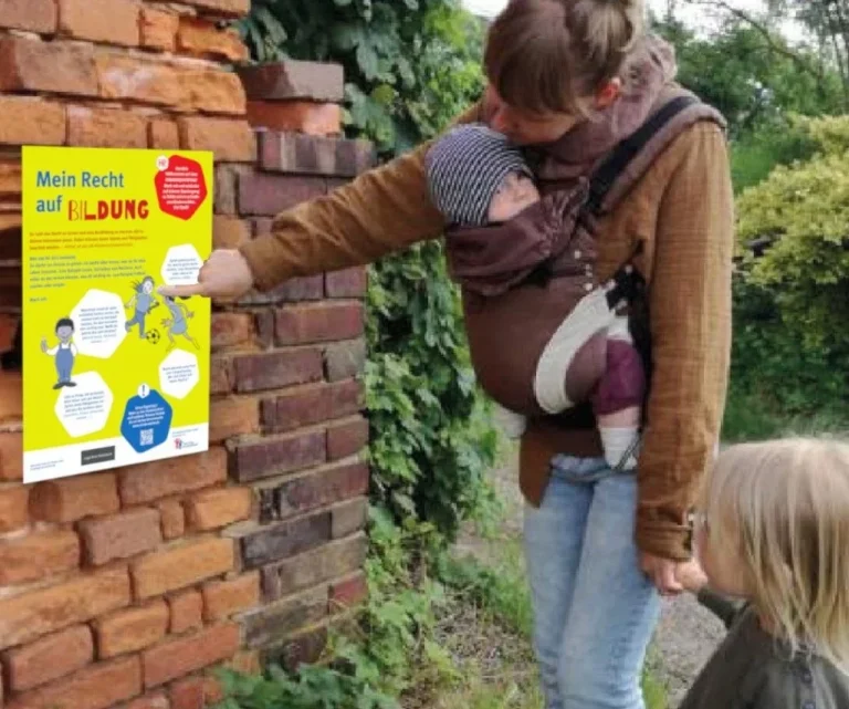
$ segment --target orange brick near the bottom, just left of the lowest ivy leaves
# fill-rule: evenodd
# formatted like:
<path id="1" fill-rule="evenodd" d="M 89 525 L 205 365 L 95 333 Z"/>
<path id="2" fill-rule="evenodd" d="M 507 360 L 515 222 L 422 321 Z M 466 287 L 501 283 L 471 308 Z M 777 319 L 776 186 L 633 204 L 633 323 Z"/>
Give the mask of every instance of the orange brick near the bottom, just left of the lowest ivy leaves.
<path id="1" fill-rule="evenodd" d="M 239 651 L 239 626 L 227 624 L 145 650 L 145 686 L 156 687 L 229 659 Z"/>

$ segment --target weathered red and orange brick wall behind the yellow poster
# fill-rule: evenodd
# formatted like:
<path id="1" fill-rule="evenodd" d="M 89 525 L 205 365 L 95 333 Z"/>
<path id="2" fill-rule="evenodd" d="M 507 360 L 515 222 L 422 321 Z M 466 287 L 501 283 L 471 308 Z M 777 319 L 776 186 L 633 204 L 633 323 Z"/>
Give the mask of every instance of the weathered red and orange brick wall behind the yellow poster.
<path id="1" fill-rule="evenodd" d="M 20 146 L 211 149 L 217 247 L 368 167 L 338 67 L 244 67 L 249 0 L 0 1 L 0 352 L 20 316 Z M 292 665 L 365 593 L 365 271 L 216 305 L 209 452 L 21 483 L 0 373 L 0 706 L 188 709 Z"/>

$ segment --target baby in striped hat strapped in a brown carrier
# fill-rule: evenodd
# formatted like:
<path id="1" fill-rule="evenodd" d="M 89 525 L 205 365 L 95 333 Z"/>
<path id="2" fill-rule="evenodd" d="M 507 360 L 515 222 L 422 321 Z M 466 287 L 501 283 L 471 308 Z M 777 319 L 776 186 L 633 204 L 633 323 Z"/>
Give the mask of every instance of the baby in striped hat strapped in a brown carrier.
<path id="1" fill-rule="evenodd" d="M 448 133 L 426 166 L 431 199 L 449 225 L 449 268 L 463 290 L 472 363 L 507 434 L 520 436 L 527 416 L 588 400 L 608 465 L 635 468 L 646 367 L 617 282 L 591 275 L 595 238 L 568 218 L 579 211 L 575 197 L 541 196 L 522 152 L 483 125 Z M 543 282 L 534 278 L 539 269 L 522 268 L 536 252 L 542 270 L 549 267 Z"/>

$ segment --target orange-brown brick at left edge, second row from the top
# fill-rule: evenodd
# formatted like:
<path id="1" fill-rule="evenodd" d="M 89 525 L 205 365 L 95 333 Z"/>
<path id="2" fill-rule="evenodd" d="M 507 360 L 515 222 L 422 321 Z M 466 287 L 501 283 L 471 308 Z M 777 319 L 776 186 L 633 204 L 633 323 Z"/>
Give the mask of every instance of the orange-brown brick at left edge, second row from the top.
<path id="1" fill-rule="evenodd" d="M 0 91 L 96 96 L 94 51 L 70 42 L 4 37 L 0 39 Z"/>

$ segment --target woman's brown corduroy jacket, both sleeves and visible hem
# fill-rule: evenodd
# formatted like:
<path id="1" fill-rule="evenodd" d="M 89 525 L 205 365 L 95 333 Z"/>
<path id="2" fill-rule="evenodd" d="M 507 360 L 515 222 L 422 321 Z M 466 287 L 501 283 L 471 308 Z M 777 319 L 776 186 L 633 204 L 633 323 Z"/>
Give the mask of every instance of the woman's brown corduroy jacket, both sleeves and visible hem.
<path id="1" fill-rule="evenodd" d="M 470 111 L 461 121 L 479 117 Z M 438 238 L 420 147 L 326 197 L 276 217 L 241 251 L 256 286 L 370 263 Z M 638 243 L 649 284 L 652 388 L 640 453 L 637 543 L 668 559 L 690 556 L 686 515 L 712 460 L 725 402 L 731 343 L 733 196 L 725 136 L 713 123 L 688 128 L 600 225 L 597 273 L 609 278 Z M 597 456 L 586 429 L 532 420 L 520 484 L 538 504 L 557 452 Z"/>

